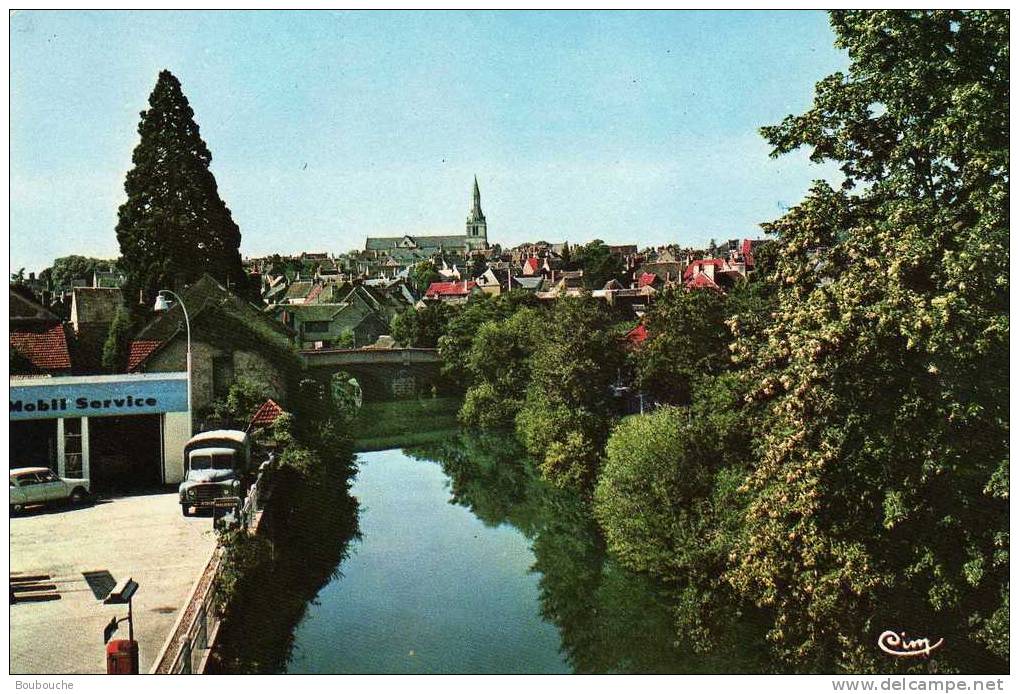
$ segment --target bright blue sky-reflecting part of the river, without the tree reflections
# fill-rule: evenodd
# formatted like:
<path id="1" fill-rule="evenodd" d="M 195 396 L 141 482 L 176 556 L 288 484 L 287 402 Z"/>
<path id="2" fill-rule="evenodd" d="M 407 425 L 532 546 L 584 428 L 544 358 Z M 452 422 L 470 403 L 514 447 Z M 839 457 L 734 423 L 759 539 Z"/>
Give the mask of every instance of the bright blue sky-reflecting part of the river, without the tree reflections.
<path id="1" fill-rule="evenodd" d="M 363 453 L 363 540 L 298 628 L 289 673 L 564 673 L 529 541 L 449 503 L 449 478 Z"/>

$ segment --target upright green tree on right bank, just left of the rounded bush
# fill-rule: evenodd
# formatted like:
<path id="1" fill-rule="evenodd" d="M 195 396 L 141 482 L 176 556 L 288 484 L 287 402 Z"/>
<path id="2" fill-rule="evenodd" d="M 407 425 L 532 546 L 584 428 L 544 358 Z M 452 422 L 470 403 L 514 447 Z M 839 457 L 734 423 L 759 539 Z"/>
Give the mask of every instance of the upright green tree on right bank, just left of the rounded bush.
<path id="1" fill-rule="evenodd" d="M 623 365 L 609 321 L 590 295 L 560 299 L 531 360 L 517 431 L 542 474 L 559 486 L 590 489 L 597 475 L 613 417 L 610 389 Z"/>

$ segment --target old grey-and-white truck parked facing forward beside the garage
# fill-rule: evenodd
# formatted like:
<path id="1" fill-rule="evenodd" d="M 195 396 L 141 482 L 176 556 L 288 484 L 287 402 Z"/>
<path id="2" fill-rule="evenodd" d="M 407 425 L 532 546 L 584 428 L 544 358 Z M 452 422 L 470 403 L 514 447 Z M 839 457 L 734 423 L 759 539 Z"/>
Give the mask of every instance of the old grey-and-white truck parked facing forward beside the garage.
<path id="1" fill-rule="evenodd" d="M 211 509 L 216 499 L 240 498 L 248 489 L 251 439 L 244 431 L 218 429 L 197 434 L 184 445 L 184 480 L 177 488 L 180 513 Z"/>

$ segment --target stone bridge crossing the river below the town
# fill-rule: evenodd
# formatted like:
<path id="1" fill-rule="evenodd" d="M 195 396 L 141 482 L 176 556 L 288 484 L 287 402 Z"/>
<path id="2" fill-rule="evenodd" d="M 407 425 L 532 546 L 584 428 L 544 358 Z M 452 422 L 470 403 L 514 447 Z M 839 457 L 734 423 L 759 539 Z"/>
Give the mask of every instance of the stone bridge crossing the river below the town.
<path id="1" fill-rule="evenodd" d="M 301 358 L 323 381 L 345 371 L 361 384 L 367 401 L 413 397 L 429 390 L 439 375 L 438 350 L 425 348 L 304 350 Z"/>

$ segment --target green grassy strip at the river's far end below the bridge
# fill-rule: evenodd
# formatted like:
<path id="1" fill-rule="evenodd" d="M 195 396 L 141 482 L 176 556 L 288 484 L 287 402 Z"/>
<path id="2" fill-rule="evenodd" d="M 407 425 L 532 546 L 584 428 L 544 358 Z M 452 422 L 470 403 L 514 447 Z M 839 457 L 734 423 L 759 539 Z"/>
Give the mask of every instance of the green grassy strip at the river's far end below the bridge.
<path id="1" fill-rule="evenodd" d="M 401 448 L 447 438 L 459 428 L 458 397 L 365 403 L 354 421 L 356 451 Z"/>

